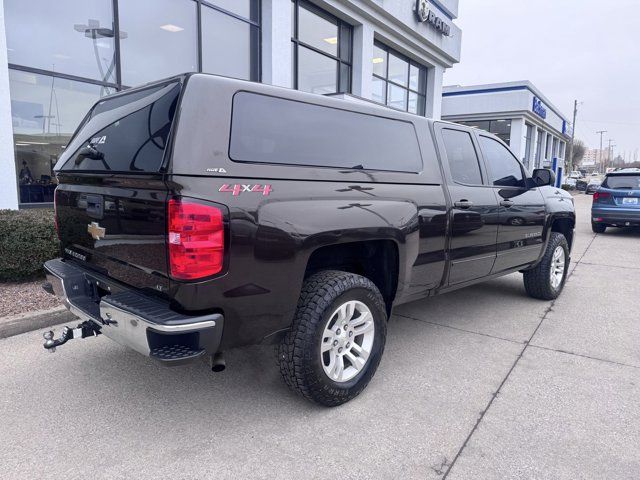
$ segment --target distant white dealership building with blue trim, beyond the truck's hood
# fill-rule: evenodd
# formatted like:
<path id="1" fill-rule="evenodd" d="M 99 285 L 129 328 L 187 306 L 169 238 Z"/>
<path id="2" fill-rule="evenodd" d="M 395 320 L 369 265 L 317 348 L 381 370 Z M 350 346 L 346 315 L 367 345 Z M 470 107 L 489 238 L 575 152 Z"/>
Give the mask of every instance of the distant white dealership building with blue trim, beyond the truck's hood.
<path id="1" fill-rule="evenodd" d="M 527 168 L 552 168 L 561 183 L 571 124 L 531 82 L 444 87 L 442 119 L 494 133 Z"/>

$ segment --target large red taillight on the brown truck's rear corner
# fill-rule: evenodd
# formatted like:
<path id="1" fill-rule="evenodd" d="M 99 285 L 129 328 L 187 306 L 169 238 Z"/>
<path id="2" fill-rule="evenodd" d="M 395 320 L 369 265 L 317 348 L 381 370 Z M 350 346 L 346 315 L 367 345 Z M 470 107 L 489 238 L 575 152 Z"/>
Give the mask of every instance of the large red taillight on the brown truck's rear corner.
<path id="1" fill-rule="evenodd" d="M 168 214 L 171 276 L 194 280 L 219 273 L 224 263 L 222 210 L 171 199 Z"/>

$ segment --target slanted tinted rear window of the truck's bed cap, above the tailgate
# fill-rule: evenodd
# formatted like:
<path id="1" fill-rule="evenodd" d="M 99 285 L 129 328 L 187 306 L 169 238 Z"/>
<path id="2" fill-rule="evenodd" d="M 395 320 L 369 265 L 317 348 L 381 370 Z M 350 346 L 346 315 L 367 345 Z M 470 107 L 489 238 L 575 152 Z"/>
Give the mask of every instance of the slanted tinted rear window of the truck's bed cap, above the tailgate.
<path id="1" fill-rule="evenodd" d="M 157 172 L 179 94 L 174 83 L 98 103 L 69 146 L 75 150 L 62 170 Z"/>

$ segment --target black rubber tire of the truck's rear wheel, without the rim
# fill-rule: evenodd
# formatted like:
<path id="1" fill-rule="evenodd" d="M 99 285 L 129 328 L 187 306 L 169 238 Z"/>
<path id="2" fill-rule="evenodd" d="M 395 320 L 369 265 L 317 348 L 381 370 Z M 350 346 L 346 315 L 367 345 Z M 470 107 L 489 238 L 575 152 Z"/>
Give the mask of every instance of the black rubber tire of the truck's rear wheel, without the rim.
<path id="1" fill-rule="evenodd" d="M 321 342 L 330 316 L 343 303 L 358 300 L 373 316 L 374 340 L 362 370 L 346 382 L 333 381 L 322 364 Z M 285 383 L 304 398 L 335 407 L 364 390 L 378 368 L 387 336 L 387 313 L 378 288 L 368 278 L 327 270 L 309 277 L 302 286 L 291 329 L 278 349 Z"/>

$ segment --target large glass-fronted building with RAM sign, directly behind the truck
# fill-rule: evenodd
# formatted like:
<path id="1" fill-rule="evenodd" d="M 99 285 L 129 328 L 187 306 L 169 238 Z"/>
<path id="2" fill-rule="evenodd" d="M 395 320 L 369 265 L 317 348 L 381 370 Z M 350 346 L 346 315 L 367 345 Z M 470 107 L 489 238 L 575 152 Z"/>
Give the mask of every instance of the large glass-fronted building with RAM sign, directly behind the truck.
<path id="1" fill-rule="evenodd" d="M 51 205 L 91 105 L 208 72 L 439 118 L 458 0 L 0 0 L 0 209 Z"/>

